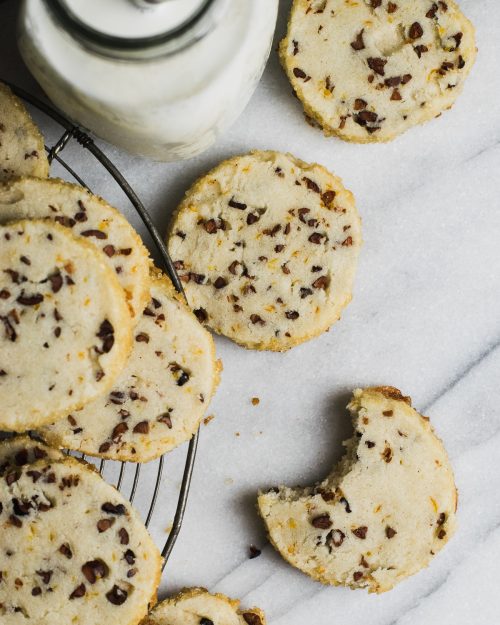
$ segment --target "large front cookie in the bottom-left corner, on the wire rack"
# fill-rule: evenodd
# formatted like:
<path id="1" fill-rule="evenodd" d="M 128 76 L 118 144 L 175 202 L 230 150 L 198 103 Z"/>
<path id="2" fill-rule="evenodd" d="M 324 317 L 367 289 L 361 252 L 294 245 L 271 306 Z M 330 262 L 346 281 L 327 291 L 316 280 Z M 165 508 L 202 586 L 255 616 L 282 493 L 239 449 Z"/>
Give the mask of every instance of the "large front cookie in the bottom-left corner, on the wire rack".
<path id="1" fill-rule="evenodd" d="M 77 460 L 0 478 L 2 625 L 135 625 L 161 556 L 122 495 Z"/>

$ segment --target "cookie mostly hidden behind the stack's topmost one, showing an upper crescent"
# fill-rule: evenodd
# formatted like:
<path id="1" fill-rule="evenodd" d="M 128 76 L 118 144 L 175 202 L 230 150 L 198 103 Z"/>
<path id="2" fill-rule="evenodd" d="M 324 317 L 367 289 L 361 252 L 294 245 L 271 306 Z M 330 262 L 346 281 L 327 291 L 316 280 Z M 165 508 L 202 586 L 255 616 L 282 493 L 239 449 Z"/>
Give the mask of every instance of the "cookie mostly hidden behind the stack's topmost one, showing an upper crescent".
<path id="1" fill-rule="evenodd" d="M 0 187 L 0 222 L 44 218 L 103 251 L 138 317 L 149 298 L 149 253 L 125 217 L 102 198 L 62 180 L 23 178 Z"/>

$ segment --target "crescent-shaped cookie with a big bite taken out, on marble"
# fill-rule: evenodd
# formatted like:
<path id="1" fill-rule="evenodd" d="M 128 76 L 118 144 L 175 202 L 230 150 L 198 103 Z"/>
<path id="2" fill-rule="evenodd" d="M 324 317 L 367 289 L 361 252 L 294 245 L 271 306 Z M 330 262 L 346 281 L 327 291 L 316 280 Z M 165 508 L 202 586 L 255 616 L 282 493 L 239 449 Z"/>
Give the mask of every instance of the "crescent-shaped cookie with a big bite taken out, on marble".
<path id="1" fill-rule="evenodd" d="M 357 390 L 355 435 L 314 488 L 282 487 L 258 505 L 290 564 L 334 586 L 385 592 L 427 566 L 455 532 L 457 491 L 427 417 L 395 388 Z"/>

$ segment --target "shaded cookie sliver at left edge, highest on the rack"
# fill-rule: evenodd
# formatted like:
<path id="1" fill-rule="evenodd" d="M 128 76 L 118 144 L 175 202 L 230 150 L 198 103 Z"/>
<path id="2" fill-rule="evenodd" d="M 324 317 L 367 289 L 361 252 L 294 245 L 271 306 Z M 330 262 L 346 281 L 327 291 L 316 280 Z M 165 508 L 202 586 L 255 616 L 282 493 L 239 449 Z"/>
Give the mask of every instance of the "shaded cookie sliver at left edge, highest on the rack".
<path id="1" fill-rule="evenodd" d="M 43 137 L 21 100 L 0 82 L 0 182 L 49 175 Z"/>

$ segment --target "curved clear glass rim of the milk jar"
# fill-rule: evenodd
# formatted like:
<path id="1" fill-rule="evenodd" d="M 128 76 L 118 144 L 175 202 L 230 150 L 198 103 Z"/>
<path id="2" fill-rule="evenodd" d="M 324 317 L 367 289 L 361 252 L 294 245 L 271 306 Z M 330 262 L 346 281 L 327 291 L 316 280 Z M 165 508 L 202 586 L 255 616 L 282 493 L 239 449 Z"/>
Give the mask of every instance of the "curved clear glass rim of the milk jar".
<path id="1" fill-rule="evenodd" d="M 128 38 L 110 35 L 85 24 L 63 0 L 44 0 L 53 17 L 68 33 L 79 39 L 86 47 L 117 58 L 136 58 L 144 53 L 147 56 L 169 54 L 198 41 L 211 30 L 210 26 L 213 24 L 208 18 L 218 2 L 219 0 L 205 0 L 186 21 L 164 33 Z M 207 22 L 205 27 L 203 22 Z"/>

